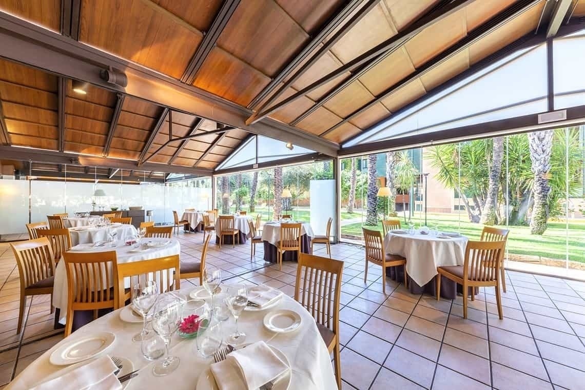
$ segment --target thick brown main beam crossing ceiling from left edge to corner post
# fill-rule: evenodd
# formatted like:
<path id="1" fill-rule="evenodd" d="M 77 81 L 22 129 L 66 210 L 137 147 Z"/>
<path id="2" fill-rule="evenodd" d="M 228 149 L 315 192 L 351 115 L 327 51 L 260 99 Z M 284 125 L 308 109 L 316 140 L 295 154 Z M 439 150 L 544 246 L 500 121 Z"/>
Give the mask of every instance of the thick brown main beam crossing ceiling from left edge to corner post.
<path id="1" fill-rule="evenodd" d="M 246 107 L 6 12 L 0 12 L 0 57 L 56 75 L 87 81 L 108 90 L 123 92 L 178 112 L 241 128 L 249 133 L 292 142 L 330 156 L 335 156 L 339 149 L 339 144 L 335 142 L 276 120 L 261 120 L 248 126 L 246 119 L 252 111 Z M 99 72 L 107 67 L 124 69 L 128 86 L 120 88 L 103 81 Z"/>

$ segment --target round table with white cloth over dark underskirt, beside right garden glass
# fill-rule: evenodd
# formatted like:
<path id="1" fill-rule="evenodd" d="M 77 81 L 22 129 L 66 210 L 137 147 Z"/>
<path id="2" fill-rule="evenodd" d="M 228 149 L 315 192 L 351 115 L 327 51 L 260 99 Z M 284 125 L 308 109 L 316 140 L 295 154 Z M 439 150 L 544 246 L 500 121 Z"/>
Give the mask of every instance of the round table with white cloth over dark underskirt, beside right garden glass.
<path id="1" fill-rule="evenodd" d="M 436 295 L 437 267 L 462 266 L 465 260 L 467 237 L 456 232 L 430 232 L 428 234 L 405 229 L 388 231 L 384 237 L 384 250 L 391 255 L 405 257 L 408 290 L 412 294 Z M 388 267 L 386 276 L 404 280 L 403 267 Z M 442 277 L 441 297 L 455 299 L 457 284 Z"/>

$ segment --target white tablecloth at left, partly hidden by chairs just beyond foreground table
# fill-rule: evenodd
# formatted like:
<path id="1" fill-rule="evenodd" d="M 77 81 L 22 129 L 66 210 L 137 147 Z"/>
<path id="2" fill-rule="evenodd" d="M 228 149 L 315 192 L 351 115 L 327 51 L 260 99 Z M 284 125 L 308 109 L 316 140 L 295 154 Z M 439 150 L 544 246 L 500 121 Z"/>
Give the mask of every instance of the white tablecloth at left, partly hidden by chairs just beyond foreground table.
<path id="1" fill-rule="evenodd" d="M 147 241 L 167 241 L 166 238 L 148 238 Z M 171 242 L 162 248 L 152 248 L 143 252 L 130 252 L 132 246 L 126 246 L 119 241 L 116 248 L 111 246 L 99 246 L 88 252 L 108 252 L 109 250 L 116 250 L 118 263 L 139 262 L 140 260 L 157 259 L 164 256 L 179 255 L 181 253 L 181 245 L 176 238 L 171 238 Z M 82 251 L 76 251 L 82 252 Z M 110 275 L 112 278 L 112 274 Z M 113 285 L 113 284 L 112 284 Z M 126 287 L 130 287 L 129 285 Z M 60 323 L 65 323 L 67 317 L 67 270 L 65 269 L 65 262 L 63 259 L 57 263 L 55 269 L 55 281 L 53 285 L 53 306 L 61 309 Z"/>

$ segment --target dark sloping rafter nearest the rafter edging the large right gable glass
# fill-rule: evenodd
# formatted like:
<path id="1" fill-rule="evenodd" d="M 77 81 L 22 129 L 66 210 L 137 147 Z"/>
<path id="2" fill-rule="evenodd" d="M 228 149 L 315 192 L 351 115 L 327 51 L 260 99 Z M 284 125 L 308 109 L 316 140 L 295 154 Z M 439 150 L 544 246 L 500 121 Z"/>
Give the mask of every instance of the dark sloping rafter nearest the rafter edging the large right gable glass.
<path id="1" fill-rule="evenodd" d="M 467 34 L 467 36 L 464 39 L 457 42 L 454 46 L 450 47 L 448 50 L 439 54 L 437 57 L 432 58 L 431 60 L 426 62 L 424 65 L 422 65 L 420 68 L 418 68 L 414 73 L 411 73 L 408 76 L 405 76 L 400 81 L 391 85 L 389 88 L 387 88 L 386 90 L 381 92 L 379 95 L 377 95 L 374 98 L 374 100 L 372 100 L 369 103 L 366 103 L 362 107 L 359 107 L 359 109 L 350 113 L 342 121 L 335 124 L 334 126 L 329 128 L 328 130 L 325 130 L 323 133 L 319 134 L 319 137 L 323 137 L 324 135 L 331 133 L 332 131 L 336 130 L 336 128 L 339 128 L 343 124 L 349 122 L 350 120 L 352 120 L 353 118 L 355 118 L 359 114 L 366 112 L 371 107 L 377 105 L 382 100 L 386 99 L 386 97 L 392 95 L 394 92 L 401 89 L 402 87 L 404 87 L 408 83 L 421 77 L 422 75 L 431 71 L 435 67 L 438 67 L 443 62 L 449 60 L 449 58 L 452 58 L 453 56 L 461 53 L 463 50 L 466 50 L 466 48 L 471 46 L 473 43 L 476 43 L 477 41 L 479 41 L 483 37 L 494 32 L 494 30 L 505 25 L 505 23 L 508 23 L 511 19 L 516 18 L 518 15 L 521 15 L 521 13 L 532 8 L 532 6 L 539 4 L 539 2 L 540 2 L 539 0 L 520 1 L 520 2 L 516 3 L 515 5 L 512 5 L 508 9 L 505 9 L 503 12 L 500 12 L 498 15 L 494 16 L 494 18 L 491 18 L 486 23 L 484 23 L 480 27 L 477 27 L 477 29 L 474 29 L 471 33 Z M 531 36 L 534 36 L 534 34 L 531 34 Z M 542 41 L 542 40 L 539 40 L 539 42 L 540 41 Z M 425 97 L 425 96 L 422 96 L 422 97 Z M 363 134 L 363 133 L 360 133 L 360 134 Z"/>

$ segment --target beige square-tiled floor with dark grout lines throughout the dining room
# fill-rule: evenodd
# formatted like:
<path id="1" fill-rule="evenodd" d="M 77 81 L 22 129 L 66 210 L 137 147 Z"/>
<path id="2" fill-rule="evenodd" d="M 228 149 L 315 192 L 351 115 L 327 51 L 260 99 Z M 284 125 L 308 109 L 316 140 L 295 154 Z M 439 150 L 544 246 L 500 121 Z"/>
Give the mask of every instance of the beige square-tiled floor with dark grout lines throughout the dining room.
<path id="1" fill-rule="evenodd" d="M 201 234 L 180 234 L 181 260 L 198 259 Z M 363 249 L 333 245 L 345 262 L 340 334 L 344 389 L 583 389 L 585 283 L 508 271 L 504 320 L 493 288 L 469 303 L 409 294 L 370 267 L 363 281 Z M 316 254 L 324 254 L 322 248 Z M 249 245 L 210 247 L 208 263 L 232 280 L 266 283 L 292 295 L 295 264 L 264 267 L 261 245 L 250 263 Z M 58 342 L 49 297 L 27 302 L 26 328 L 16 336 L 18 269 L 0 243 L 0 388 Z M 183 284 L 184 286 L 184 284 Z M 42 339 L 35 341 L 37 339 Z"/>

